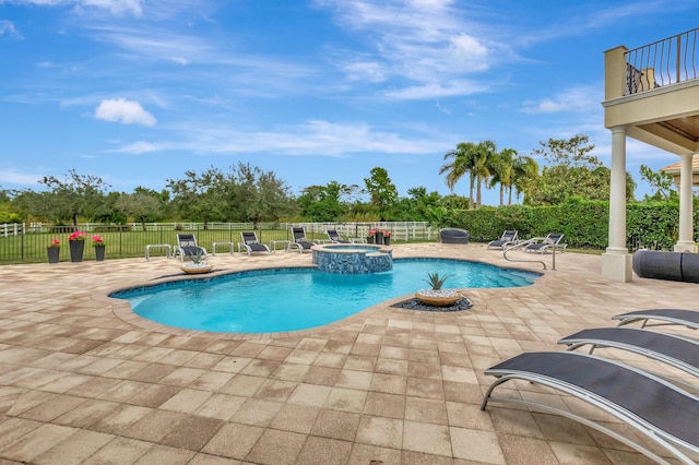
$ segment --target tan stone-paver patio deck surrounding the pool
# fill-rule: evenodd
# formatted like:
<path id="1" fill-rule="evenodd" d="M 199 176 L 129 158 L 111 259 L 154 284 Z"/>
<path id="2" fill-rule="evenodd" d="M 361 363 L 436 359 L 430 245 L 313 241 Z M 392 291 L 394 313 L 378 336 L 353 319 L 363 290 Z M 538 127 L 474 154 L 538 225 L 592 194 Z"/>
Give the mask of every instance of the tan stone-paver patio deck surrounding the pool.
<path id="1" fill-rule="evenodd" d="M 541 271 L 485 245 L 393 249 L 395 258 Z M 557 271 L 533 286 L 466 290 L 474 307 L 464 312 L 389 307 L 403 296 L 318 330 L 250 336 L 168 329 L 106 297 L 178 273 L 171 259 L 0 266 L 0 463 L 650 463 L 558 416 L 478 409 L 493 381 L 483 370 L 506 358 L 561 350 L 558 338 L 613 326 L 617 313 L 699 309 L 696 284 L 613 283 L 601 277 L 597 255 L 556 259 Z M 311 257 L 209 261 L 237 271 L 310 264 Z M 620 355 L 603 350 L 595 354 Z M 510 392 L 606 419 L 528 383 Z"/>

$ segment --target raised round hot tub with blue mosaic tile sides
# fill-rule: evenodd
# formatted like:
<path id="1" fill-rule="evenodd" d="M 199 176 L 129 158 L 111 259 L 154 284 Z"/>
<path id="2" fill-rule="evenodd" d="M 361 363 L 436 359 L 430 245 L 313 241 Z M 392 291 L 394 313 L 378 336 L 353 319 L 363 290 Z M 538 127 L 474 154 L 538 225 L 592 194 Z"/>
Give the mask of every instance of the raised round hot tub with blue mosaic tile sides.
<path id="1" fill-rule="evenodd" d="M 337 274 L 369 274 L 393 270 L 392 249 L 370 243 L 328 243 L 311 247 L 318 270 Z"/>

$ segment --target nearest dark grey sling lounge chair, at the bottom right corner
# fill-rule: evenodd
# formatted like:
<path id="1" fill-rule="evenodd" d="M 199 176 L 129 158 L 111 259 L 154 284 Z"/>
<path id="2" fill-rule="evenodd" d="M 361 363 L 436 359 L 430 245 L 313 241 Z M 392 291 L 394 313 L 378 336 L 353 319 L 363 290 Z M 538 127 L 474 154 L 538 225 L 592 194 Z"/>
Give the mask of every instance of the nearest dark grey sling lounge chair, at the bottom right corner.
<path id="1" fill-rule="evenodd" d="M 544 351 L 518 355 L 485 370 L 485 374 L 497 380 L 486 391 L 482 410 L 495 402 L 561 415 L 608 434 L 657 463 L 671 463 L 641 444 L 638 438 L 606 427 L 606 421 L 600 418 L 561 408 L 565 403 L 541 402 L 549 395 L 520 396 L 514 392 L 506 397 L 493 396 L 497 386 L 521 380 L 552 388 L 602 409 L 680 463 L 696 464 L 699 458 L 699 398 L 638 368 L 576 351 Z M 531 391 L 529 383 L 526 391 Z"/>

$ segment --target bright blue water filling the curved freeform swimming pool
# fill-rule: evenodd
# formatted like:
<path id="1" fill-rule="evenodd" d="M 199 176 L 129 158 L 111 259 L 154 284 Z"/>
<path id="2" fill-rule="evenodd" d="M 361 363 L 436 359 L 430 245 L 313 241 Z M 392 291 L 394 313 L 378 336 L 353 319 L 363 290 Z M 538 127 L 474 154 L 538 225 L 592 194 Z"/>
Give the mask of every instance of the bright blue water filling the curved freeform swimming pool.
<path id="1" fill-rule="evenodd" d="M 529 286 L 541 276 L 521 270 L 443 259 L 395 260 L 379 274 L 276 269 L 121 290 L 133 311 L 168 326 L 268 333 L 332 323 L 383 300 L 429 287 L 428 273 L 449 275 L 446 288 Z"/>

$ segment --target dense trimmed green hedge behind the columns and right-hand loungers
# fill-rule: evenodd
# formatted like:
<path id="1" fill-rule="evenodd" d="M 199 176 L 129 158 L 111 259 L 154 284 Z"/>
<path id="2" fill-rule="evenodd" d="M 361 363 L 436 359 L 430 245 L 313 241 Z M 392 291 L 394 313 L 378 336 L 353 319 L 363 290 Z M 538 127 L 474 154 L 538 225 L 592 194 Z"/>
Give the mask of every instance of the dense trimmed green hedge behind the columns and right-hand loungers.
<path id="1" fill-rule="evenodd" d="M 699 231 L 698 205 L 695 199 L 695 234 Z M 672 250 L 677 242 L 678 225 L 677 203 L 629 203 L 627 247 Z M 562 233 L 564 242 L 570 248 L 604 249 L 608 243 L 609 202 L 572 198 L 554 206 L 482 207 L 457 213 L 455 224 L 450 226 L 466 229 L 474 242 L 488 242 L 506 229 L 517 229 L 522 239 Z"/>

